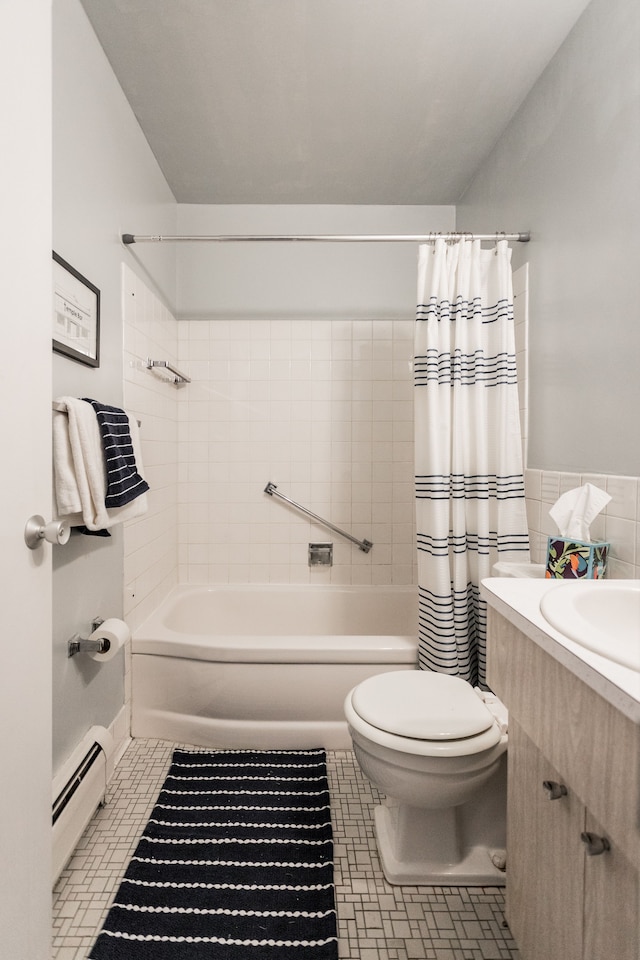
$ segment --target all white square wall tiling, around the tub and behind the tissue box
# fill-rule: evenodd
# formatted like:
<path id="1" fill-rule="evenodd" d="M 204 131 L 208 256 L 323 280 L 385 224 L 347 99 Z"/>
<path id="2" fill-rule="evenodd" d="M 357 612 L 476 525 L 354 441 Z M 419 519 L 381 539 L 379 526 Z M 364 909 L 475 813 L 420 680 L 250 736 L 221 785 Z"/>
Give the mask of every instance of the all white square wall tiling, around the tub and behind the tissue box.
<path id="1" fill-rule="evenodd" d="M 526 462 L 527 268 L 514 274 Z M 142 421 L 150 509 L 127 525 L 125 613 L 132 629 L 181 582 L 415 582 L 413 320 L 177 322 L 123 266 L 125 406 Z M 176 387 L 146 369 L 167 359 Z M 634 477 L 527 470 L 532 558 L 555 528 L 549 507 L 587 480 L 612 502 L 593 536 L 610 576 L 640 576 Z M 264 491 L 273 481 L 319 516 L 373 541 L 365 554 Z M 310 542 L 334 565 L 310 568 Z"/>

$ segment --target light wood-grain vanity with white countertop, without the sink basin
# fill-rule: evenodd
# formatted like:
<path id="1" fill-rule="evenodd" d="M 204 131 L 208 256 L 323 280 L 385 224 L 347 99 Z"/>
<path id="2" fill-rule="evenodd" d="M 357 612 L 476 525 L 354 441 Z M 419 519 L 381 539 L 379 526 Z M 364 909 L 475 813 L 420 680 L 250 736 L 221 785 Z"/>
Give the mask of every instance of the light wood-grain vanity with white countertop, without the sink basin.
<path id="1" fill-rule="evenodd" d="M 640 672 L 551 627 L 554 588 L 483 582 L 488 681 L 509 709 L 506 919 L 522 960 L 638 960 Z"/>

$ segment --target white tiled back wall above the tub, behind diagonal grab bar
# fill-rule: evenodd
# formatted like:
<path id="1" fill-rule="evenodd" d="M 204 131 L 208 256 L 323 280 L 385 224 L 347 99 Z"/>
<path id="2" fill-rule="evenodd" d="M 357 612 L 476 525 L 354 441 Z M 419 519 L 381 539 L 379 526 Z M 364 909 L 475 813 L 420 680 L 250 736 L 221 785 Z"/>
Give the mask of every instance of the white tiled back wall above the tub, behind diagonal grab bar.
<path id="1" fill-rule="evenodd" d="M 415 582 L 412 342 L 412 320 L 178 324 L 181 582 Z"/>

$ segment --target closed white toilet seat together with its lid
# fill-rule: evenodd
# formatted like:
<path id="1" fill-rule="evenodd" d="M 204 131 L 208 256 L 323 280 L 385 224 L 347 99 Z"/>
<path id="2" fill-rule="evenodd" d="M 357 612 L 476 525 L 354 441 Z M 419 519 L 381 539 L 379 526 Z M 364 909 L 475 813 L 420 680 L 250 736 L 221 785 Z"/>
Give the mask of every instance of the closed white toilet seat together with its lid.
<path id="1" fill-rule="evenodd" d="M 461 677 L 410 670 L 377 674 L 347 697 L 347 720 L 381 746 L 424 756 L 489 750 L 502 731 Z"/>

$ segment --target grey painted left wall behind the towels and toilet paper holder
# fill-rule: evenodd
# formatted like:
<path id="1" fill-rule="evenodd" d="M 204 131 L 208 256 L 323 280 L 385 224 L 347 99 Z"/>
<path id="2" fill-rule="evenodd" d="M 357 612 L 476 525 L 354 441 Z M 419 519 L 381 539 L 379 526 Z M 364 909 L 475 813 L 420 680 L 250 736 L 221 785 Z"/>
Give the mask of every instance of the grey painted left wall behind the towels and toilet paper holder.
<path id="1" fill-rule="evenodd" d="M 100 367 L 54 356 L 54 396 L 122 405 L 121 264 L 172 301 L 175 250 L 124 247 L 120 234 L 175 230 L 176 204 L 79 0 L 53 7 L 53 247 L 101 292 Z M 123 611 L 122 530 L 74 534 L 54 554 L 54 769 L 92 724 L 110 727 L 124 703 L 124 663 L 67 658 L 96 615 Z M 121 717 L 116 735 L 124 733 Z"/>

